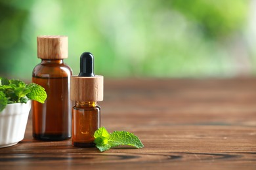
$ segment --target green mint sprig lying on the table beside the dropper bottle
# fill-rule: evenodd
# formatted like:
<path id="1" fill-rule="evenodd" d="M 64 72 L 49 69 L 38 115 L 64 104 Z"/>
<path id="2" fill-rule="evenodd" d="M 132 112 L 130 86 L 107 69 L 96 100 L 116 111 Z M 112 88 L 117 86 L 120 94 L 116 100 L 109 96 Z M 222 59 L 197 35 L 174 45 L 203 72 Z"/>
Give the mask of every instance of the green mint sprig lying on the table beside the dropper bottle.
<path id="1" fill-rule="evenodd" d="M 119 145 L 135 146 L 136 148 L 144 147 L 139 137 L 128 131 L 114 131 L 113 133 L 108 133 L 105 127 L 100 127 L 95 131 L 94 137 L 94 143 L 100 152 Z"/>

